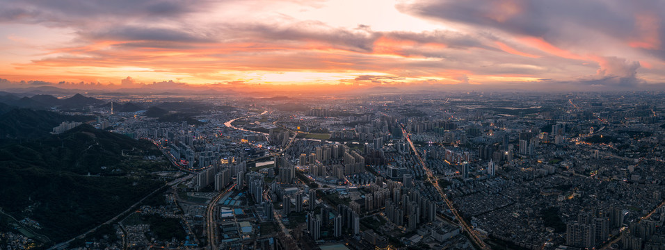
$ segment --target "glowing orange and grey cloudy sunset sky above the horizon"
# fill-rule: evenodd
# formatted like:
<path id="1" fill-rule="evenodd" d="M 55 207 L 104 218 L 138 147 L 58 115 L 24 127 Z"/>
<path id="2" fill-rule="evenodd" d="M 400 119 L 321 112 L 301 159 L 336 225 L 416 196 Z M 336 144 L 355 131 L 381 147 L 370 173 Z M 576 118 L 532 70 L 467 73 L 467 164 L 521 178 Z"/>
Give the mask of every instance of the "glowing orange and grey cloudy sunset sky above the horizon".
<path id="1" fill-rule="evenodd" d="M 640 90 L 665 1 L 0 0 L 0 86 Z"/>

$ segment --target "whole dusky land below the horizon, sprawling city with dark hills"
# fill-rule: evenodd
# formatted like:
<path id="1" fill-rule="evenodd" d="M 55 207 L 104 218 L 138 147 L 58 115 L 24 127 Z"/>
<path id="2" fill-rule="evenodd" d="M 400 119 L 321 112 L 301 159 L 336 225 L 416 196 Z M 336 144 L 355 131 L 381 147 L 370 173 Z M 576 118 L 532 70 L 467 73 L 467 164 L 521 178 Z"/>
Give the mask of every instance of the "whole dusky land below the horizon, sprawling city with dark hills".
<path id="1" fill-rule="evenodd" d="M 0 249 L 665 249 L 665 93 L 0 94 Z"/>

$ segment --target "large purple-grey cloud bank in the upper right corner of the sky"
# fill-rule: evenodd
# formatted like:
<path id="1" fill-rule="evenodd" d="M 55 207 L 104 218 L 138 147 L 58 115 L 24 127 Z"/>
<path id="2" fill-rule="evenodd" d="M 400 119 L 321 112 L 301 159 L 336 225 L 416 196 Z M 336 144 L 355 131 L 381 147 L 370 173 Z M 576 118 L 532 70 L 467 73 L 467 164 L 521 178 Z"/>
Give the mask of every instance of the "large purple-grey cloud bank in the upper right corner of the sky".
<path id="1" fill-rule="evenodd" d="M 563 49 L 607 53 L 630 44 L 665 58 L 660 42 L 665 20 L 654 12 L 665 9 L 665 2 L 658 0 L 417 0 L 398 8 L 465 30 L 489 29 L 495 35 L 538 39 Z"/>

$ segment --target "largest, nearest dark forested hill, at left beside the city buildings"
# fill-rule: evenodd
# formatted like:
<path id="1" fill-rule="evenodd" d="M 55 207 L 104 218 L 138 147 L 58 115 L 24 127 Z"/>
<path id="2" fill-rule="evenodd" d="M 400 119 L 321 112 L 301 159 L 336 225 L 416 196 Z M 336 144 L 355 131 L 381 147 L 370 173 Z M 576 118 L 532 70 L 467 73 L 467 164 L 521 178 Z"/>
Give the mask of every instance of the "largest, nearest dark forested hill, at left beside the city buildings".
<path id="1" fill-rule="evenodd" d="M 123 156 L 123 151 L 139 160 Z M 5 144 L 0 146 L 0 207 L 14 217 L 35 219 L 42 225 L 38 233 L 54 242 L 67 240 L 163 185 L 147 174 L 154 166 L 139 165 L 142 155 L 159 155 L 159 150 L 151 142 L 88 124 L 40 140 Z M 125 176 L 129 172 L 145 174 Z M 29 215 L 28 206 L 33 206 Z"/>

